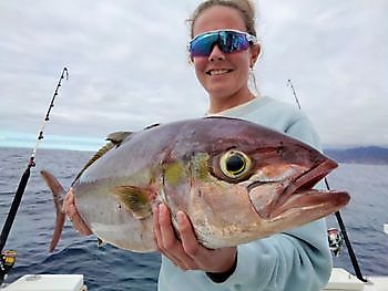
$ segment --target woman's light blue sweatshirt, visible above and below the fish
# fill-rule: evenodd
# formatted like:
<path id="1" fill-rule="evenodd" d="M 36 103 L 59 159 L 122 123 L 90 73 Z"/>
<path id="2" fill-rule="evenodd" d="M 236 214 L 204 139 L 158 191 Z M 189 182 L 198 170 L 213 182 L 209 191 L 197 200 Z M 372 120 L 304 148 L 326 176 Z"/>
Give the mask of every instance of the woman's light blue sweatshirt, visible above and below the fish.
<path id="1" fill-rule="evenodd" d="M 270 97 L 249 101 L 217 115 L 247 119 L 320 149 L 318 135 L 300 110 Z M 159 290 L 317 291 L 331 272 L 324 219 L 237 247 L 237 266 L 223 283 L 203 271 L 182 271 L 162 256 Z"/>

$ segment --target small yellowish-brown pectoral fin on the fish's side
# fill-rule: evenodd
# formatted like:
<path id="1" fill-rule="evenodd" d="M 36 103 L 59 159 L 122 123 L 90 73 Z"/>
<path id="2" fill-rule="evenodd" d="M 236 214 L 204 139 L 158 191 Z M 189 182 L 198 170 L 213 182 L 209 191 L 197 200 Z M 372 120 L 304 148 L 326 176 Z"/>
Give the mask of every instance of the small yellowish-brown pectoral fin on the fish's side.
<path id="1" fill-rule="evenodd" d="M 112 188 L 112 193 L 123 202 L 126 209 L 132 211 L 135 218 L 144 219 L 152 215 L 150 201 L 153 191 L 151 189 L 136 186 L 118 186 Z"/>

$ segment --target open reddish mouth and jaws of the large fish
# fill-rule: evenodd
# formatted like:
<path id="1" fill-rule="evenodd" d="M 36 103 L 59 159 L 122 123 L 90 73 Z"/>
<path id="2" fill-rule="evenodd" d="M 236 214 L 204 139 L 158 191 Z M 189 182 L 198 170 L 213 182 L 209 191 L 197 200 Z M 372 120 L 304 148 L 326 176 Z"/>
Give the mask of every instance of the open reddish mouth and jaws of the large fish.
<path id="1" fill-rule="evenodd" d="M 316 167 L 282 181 L 254 181 L 248 196 L 256 212 L 264 219 L 277 219 L 287 214 L 306 215 L 313 220 L 329 215 L 349 201 L 345 191 L 316 190 L 313 187 L 338 165 L 326 159 Z M 269 190 L 269 191 L 268 191 Z"/>

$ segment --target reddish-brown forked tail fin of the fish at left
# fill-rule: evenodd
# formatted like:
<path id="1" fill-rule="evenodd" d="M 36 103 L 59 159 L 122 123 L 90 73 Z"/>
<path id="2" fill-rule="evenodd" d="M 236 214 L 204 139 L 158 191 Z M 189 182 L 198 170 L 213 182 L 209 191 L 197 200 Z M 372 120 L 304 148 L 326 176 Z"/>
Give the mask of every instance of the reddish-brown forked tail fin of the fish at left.
<path id="1" fill-rule="evenodd" d="M 47 170 L 41 170 L 40 175 L 52 191 L 52 196 L 54 198 L 54 207 L 57 211 L 55 229 L 50 243 L 50 252 L 52 252 L 55 249 L 63 230 L 65 214 L 62 211 L 62 206 L 65 190 L 51 173 Z"/>

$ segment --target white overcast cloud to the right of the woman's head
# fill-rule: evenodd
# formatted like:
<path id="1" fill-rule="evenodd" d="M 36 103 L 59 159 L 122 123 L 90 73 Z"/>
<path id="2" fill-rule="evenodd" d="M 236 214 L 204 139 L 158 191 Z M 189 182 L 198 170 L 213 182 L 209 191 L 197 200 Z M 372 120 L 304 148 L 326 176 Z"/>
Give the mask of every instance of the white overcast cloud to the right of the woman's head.
<path id="1" fill-rule="evenodd" d="M 263 91 L 302 107 L 326 144 L 384 144 L 386 1 L 262 1 Z M 265 11 L 270 11 L 265 13 Z M 385 35 L 384 35 L 385 34 Z"/>

